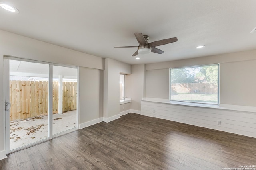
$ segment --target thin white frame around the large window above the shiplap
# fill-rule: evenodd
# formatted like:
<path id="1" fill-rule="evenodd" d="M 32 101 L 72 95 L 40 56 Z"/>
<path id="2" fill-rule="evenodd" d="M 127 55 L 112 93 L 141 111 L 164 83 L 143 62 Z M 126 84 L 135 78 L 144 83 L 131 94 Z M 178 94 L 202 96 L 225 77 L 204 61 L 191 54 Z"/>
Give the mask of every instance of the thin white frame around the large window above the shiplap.
<path id="1" fill-rule="evenodd" d="M 181 101 L 181 100 L 172 100 L 171 98 L 171 90 L 172 90 L 172 69 L 179 68 L 198 68 L 204 66 L 218 66 L 218 77 L 217 77 L 217 103 L 208 103 L 208 102 L 190 102 L 190 101 Z M 216 64 L 204 64 L 204 65 L 196 65 L 196 66 L 184 66 L 184 67 L 173 67 L 169 68 L 169 101 L 173 104 L 182 104 L 182 105 L 211 105 L 211 106 L 219 106 L 220 105 L 220 63 Z"/>

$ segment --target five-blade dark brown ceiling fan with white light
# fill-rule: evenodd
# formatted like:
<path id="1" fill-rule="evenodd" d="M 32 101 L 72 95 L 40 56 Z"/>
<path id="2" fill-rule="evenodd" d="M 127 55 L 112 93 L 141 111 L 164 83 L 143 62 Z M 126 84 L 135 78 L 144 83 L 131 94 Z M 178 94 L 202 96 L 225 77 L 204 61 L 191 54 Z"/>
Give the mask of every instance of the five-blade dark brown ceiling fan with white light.
<path id="1" fill-rule="evenodd" d="M 159 45 L 165 45 L 169 43 L 173 43 L 178 41 L 176 37 L 174 38 L 168 38 L 168 39 L 162 39 L 159 41 L 154 41 L 151 43 L 148 43 L 148 35 L 142 35 L 142 33 L 134 33 L 137 41 L 140 43 L 138 46 L 123 46 L 123 47 L 115 47 L 115 48 L 133 48 L 137 47 L 138 50 L 135 51 L 135 53 L 132 56 L 136 56 L 138 54 L 149 54 L 150 52 L 162 54 L 164 51 L 156 48 L 156 46 Z"/>

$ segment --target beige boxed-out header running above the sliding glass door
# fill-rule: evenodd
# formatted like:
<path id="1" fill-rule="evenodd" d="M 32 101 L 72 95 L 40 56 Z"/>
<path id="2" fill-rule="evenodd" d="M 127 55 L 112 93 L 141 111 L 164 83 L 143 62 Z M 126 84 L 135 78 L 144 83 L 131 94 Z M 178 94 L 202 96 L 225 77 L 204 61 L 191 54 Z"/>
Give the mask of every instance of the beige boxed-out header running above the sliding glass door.
<path id="1" fill-rule="evenodd" d="M 104 59 L 0 30 L 0 53 L 58 64 L 104 69 Z"/>

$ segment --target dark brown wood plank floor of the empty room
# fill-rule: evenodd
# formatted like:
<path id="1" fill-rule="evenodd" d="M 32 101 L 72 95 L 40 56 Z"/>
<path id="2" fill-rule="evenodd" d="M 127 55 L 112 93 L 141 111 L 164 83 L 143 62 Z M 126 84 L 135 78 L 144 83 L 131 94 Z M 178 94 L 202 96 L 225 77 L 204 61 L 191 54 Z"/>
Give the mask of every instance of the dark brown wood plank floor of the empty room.
<path id="1" fill-rule="evenodd" d="M 222 170 L 245 165 L 256 165 L 255 138 L 132 113 L 0 161 L 1 170 Z"/>

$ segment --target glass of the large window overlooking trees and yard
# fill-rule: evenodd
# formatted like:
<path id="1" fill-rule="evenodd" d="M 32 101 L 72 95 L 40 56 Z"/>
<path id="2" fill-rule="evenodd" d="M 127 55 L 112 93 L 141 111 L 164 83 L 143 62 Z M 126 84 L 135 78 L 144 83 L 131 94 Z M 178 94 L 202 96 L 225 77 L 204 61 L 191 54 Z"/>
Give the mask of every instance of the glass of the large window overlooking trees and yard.
<path id="1" fill-rule="evenodd" d="M 219 64 L 170 68 L 170 100 L 219 103 Z"/>

